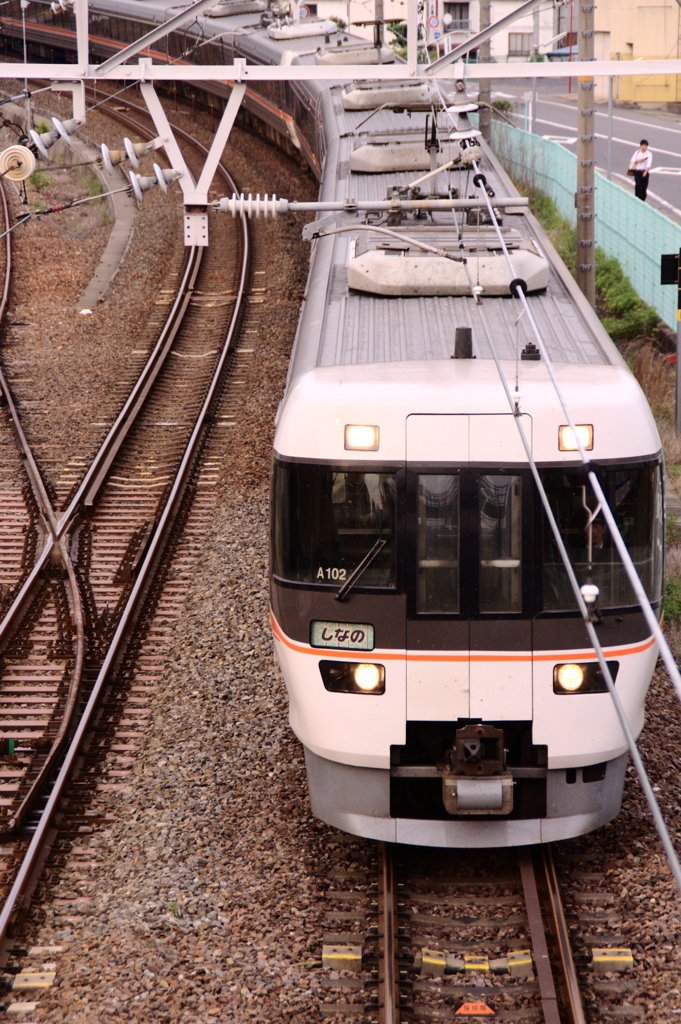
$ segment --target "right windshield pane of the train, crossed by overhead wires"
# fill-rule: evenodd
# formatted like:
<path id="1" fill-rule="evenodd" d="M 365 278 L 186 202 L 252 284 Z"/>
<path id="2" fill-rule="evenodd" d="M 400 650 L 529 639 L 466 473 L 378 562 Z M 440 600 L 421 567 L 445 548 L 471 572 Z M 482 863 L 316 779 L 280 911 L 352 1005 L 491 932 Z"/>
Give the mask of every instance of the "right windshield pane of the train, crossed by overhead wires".
<path id="1" fill-rule="evenodd" d="M 663 497 L 658 466 L 637 466 L 598 473 L 608 505 L 650 601 L 662 599 Z M 594 583 L 599 607 L 636 604 L 607 525 L 597 514 L 591 487 L 579 471 L 542 473 L 549 501 L 580 584 Z M 574 607 L 567 573 L 545 523 L 544 610 Z"/>

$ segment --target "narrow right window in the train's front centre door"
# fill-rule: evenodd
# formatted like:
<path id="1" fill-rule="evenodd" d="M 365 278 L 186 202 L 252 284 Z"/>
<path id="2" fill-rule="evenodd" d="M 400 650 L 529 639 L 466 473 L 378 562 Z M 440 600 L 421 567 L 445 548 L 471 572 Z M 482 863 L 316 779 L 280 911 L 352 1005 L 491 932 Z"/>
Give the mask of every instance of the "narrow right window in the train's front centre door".
<path id="1" fill-rule="evenodd" d="M 522 492 L 516 475 L 478 482 L 479 611 L 522 610 Z"/>

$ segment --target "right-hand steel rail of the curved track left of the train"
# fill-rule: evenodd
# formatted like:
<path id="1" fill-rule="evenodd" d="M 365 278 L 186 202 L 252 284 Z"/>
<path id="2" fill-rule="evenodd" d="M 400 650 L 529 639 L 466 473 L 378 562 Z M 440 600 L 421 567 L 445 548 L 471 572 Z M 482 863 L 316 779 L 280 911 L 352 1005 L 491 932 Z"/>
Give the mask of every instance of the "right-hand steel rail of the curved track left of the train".
<path id="1" fill-rule="evenodd" d="M 134 586 L 128 596 L 128 600 L 123 609 L 116 633 L 92 687 L 87 705 L 78 722 L 78 725 L 76 726 L 71 742 L 63 754 L 63 760 L 59 768 L 59 772 L 52 785 L 40 820 L 32 836 L 12 888 L 4 906 L 2 907 L 2 911 L 0 912 L 0 962 L 3 959 L 5 950 L 7 949 L 9 943 L 10 926 L 12 925 L 22 905 L 28 902 L 28 899 L 37 884 L 40 869 L 45 861 L 44 846 L 46 845 L 50 834 L 54 833 L 53 820 L 71 775 L 77 765 L 83 738 L 86 735 L 86 730 L 93 719 L 101 692 L 109 682 L 115 665 L 117 664 L 117 659 L 121 656 L 124 645 L 130 635 L 130 632 L 132 631 L 136 610 L 147 593 L 147 589 L 151 585 L 152 578 L 155 574 L 158 561 L 163 554 L 164 545 L 170 535 L 170 527 L 174 522 L 180 502 L 186 492 L 186 486 L 190 479 L 195 460 L 198 457 L 203 438 L 205 436 L 205 428 L 210 422 L 210 412 L 217 395 L 218 388 L 221 384 L 225 362 L 231 349 L 231 342 L 244 315 L 246 289 L 248 286 L 248 278 L 251 267 L 251 246 L 248 224 L 243 217 L 241 218 L 241 221 L 244 238 L 242 271 L 235 303 L 235 310 L 229 329 L 225 336 L 222 352 L 215 367 L 211 385 L 204 398 L 199 416 L 197 417 L 195 428 L 186 445 L 175 481 L 168 496 L 163 513 L 159 518 L 152 542 L 140 565 Z"/>

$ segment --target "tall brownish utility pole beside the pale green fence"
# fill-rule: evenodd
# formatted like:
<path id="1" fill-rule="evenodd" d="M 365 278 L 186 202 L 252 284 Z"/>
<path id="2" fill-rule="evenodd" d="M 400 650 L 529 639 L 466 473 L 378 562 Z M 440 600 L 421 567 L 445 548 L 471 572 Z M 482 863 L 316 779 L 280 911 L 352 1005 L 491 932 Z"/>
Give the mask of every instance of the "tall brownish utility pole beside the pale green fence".
<path id="1" fill-rule="evenodd" d="M 579 59 L 594 59 L 594 10 L 590 0 L 578 0 Z M 593 78 L 580 78 L 577 90 L 577 283 L 591 306 L 596 305 L 596 196 L 594 172 Z"/>

